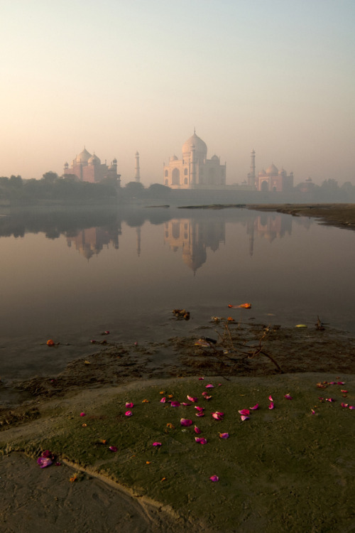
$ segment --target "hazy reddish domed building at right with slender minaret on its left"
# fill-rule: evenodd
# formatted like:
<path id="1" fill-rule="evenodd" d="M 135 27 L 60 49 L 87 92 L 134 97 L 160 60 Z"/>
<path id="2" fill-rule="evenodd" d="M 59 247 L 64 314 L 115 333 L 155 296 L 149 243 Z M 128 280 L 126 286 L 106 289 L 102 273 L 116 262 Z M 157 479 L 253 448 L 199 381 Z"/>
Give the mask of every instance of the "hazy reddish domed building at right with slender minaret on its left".
<path id="1" fill-rule="evenodd" d="M 253 186 L 254 190 L 261 190 L 263 192 L 271 191 L 277 193 L 285 193 L 293 189 L 293 172 L 288 173 L 281 168 L 278 168 L 271 163 L 266 168 L 266 171 L 262 170 L 258 172 L 256 176 L 255 172 L 255 151 L 251 152 L 251 166 L 248 173 L 248 185 Z"/>

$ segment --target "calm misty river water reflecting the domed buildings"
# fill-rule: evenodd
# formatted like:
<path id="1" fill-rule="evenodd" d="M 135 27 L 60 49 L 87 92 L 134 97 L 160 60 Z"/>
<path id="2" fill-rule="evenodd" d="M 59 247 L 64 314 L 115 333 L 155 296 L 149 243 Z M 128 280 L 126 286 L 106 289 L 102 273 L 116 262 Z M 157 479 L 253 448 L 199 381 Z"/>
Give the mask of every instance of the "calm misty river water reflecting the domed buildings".
<path id="1" fill-rule="evenodd" d="M 0 377 L 59 372 L 89 342 L 195 333 L 211 316 L 355 333 L 355 232 L 249 210 L 0 218 Z M 227 305 L 251 302 L 249 311 Z M 172 319 L 173 308 L 191 313 Z M 45 342 L 60 342 L 51 350 Z M 68 343 L 70 345 L 65 345 Z"/>

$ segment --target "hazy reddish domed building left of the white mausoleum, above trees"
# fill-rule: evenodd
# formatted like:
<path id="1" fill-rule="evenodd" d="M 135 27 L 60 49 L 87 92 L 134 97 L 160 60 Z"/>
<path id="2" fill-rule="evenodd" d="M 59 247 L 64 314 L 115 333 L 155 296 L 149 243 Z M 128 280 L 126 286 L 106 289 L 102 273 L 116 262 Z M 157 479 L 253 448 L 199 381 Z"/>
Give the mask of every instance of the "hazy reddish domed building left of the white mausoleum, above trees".
<path id="1" fill-rule="evenodd" d="M 104 178 L 114 178 L 117 184 L 121 183 L 121 174 L 117 174 L 117 160 L 116 158 L 107 166 L 95 155 L 89 154 L 86 148 L 75 159 L 72 160 L 72 166 L 68 163 L 64 165 L 64 176 L 77 176 L 80 181 L 89 181 L 90 183 L 98 183 Z"/>

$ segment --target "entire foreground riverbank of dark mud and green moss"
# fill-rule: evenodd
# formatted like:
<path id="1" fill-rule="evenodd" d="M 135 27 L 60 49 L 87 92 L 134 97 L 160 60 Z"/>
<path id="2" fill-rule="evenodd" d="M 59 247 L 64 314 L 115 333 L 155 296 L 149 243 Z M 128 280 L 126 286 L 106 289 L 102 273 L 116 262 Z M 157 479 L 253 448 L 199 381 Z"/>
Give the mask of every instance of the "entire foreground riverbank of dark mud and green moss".
<path id="1" fill-rule="evenodd" d="M 216 327 L 217 343 L 102 347 L 17 383 L 26 401 L 1 413 L 4 531 L 350 531 L 355 339 L 317 322 Z"/>

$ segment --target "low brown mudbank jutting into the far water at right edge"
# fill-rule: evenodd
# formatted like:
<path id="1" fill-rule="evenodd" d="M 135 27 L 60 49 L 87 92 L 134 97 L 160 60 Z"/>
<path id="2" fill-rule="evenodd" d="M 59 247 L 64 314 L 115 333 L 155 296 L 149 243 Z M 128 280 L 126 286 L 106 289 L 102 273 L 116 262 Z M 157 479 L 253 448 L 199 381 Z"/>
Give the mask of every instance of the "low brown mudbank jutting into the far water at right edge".
<path id="1" fill-rule="evenodd" d="M 248 209 L 258 211 L 276 211 L 294 217 L 312 217 L 319 219 L 321 224 L 355 230 L 354 203 L 327 204 L 253 204 Z"/>

